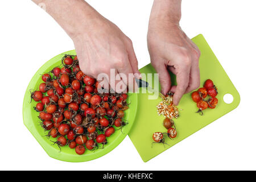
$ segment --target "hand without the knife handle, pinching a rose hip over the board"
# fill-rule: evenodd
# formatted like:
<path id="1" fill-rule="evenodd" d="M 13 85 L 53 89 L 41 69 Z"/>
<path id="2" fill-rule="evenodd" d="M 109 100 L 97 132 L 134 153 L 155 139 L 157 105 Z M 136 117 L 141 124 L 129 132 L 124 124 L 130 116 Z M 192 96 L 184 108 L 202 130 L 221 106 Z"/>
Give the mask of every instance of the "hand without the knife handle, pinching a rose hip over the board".
<path id="1" fill-rule="evenodd" d="M 184 93 L 200 86 L 199 57 L 197 48 L 179 26 L 179 18 L 151 12 L 147 42 L 151 64 L 159 73 L 161 92 L 174 92 L 174 105 Z M 170 70 L 176 75 L 177 86 L 171 86 Z"/>

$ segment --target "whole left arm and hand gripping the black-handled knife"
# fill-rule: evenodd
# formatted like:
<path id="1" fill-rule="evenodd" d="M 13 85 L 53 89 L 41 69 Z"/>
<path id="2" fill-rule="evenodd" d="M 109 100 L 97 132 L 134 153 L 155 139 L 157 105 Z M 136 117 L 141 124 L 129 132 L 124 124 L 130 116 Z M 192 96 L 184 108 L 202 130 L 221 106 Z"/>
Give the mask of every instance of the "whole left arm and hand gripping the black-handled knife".
<path id="1" fill-rule="evenodd" d="M 71 37 L 82 72 L 94 78 L 105 73 L 115 92 L 125 92 L 131 86 L 133 91 L 137 89 L 133 74 L 137 73 L 137 78 L 141 74 L 138 71 L 133 44 L 114 23 L 83 0 L 33 1 L 36 4 L 44 3 L 47 13 Z M 110 69 L 114 69 L 114 74 L 110 74 Z M 129 73 L 133 73 L 130 78 Z M 119 76 L 119 80 L 112 79 L 110 75 Z"/>

